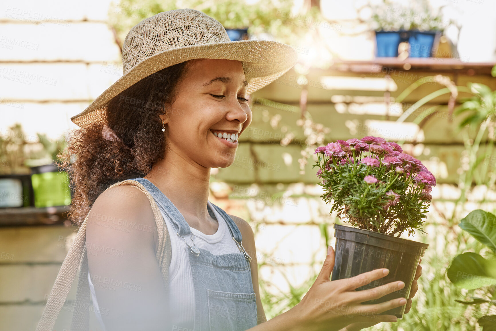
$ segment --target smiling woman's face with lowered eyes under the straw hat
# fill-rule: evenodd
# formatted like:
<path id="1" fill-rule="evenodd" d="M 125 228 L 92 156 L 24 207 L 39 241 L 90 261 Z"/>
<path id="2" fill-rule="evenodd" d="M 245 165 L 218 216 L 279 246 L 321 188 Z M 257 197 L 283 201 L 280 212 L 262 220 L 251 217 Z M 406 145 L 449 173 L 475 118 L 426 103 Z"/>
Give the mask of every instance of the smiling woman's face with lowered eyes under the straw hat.
<path id="1" fill-rule="evenodd" d="M 163 117 L 168 126 L 166 153 L 206 168 L 228 167 L 234 162 L 238 141 L 214 132 L 238 134 L 239 138 L 251 123 L 242 63 L 217 59 L 190 62 L 177 86 L 176 100 Z"/>

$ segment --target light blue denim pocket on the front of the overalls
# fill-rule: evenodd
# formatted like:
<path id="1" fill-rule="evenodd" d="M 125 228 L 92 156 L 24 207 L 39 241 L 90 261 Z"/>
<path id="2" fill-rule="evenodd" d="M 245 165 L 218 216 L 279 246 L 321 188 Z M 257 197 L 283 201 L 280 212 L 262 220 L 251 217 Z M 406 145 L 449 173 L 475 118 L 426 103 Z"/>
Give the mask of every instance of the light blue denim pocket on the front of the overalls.
<path id="1" fill-rule="evenodd" d="M 210 331 L 244 331 L 257 325 L 255 293 L 207 289 Z"/>

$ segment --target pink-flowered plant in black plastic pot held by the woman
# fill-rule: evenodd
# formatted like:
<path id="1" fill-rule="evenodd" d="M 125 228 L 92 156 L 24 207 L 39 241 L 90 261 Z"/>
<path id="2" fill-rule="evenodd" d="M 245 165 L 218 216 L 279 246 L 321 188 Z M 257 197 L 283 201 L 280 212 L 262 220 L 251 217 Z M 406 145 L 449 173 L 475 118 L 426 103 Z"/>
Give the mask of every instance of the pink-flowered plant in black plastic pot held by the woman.
<path id="1" fill-rule="evenodd" d="M 317 147 L 317 177 L 331 203 L 331 213 L 351 226 L 334 224 L 336 238 L 332 279 L 386 267 L 389 274 L 364 290 L 402 280 L 405 287 L 367 303 L 408 297 L 419 260 L 429 245 L 399 238 L 422 230 L 431 202 L 433 174 L 395 142 L 374 136 L 337 140 Z M 397 234 L 397 237 L 394 235 Z M 403 317 L 401 306 L 382 314 Z"/>

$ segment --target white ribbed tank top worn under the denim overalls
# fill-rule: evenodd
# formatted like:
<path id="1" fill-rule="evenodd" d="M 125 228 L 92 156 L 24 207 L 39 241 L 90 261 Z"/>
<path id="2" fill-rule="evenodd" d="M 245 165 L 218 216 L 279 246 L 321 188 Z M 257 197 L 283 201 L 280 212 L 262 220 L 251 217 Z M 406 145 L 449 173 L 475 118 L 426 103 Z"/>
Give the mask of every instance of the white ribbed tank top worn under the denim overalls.
<path id="1" fill-rule="evenodd" d="M 214 255 L 222 255 L 228 253 L 240 253 L 239 248 L 236 246 L 225 219 L 217 212 L 215 207 L 207 201 L 208 208 L 213 212 L 217 219 L 219 226 L 217 232 L 212 235 L 206 235 L 199 230 L 191 228 L 194 234 L 193 240 L 196 247 L 208 250 Z M 188 247 L 183 238 L 179 237 L 174 230 L 169 218 L 162 213 L 162 217 L 167 225 L 169 236 L 171 238 L 171 265 L 169 266 L 169 293 L 170 293 L 170 309 L 172 325 L 181 326 L 182 328 L 193 329 L 194 317 L 194 291 L 193 279 L 191 269 L 189 267 L 189 254 L 187 254 L 186 247 Z M 191 245 L 191 240 L 186 237 L 186 242 Z M 90 274 L 88 273 L 89 286 L 91 291 L 91 298 L 93 306 L 95 307 L 95 315 L 97 320 L 105 331 L 102 317 L 99 314 L 98 301 L 96 299 L 95 288 L 91 282 Z M 187 330 L 183 329 L 183 330 Z M 180 329 L 181 330 L 181 329 Z"/>

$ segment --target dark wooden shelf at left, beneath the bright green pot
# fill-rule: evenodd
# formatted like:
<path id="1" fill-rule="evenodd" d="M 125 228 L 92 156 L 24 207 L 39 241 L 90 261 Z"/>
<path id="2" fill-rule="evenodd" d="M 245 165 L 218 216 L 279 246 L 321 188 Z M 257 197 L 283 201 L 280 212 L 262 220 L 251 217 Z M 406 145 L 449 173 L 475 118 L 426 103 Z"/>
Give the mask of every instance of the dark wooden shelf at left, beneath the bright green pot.
<path id="1" fill-rule="evenodd" d="M 71 206 L 0 208 L 1 226 L 70 225 L 67 213 Z"/>

